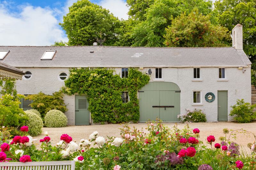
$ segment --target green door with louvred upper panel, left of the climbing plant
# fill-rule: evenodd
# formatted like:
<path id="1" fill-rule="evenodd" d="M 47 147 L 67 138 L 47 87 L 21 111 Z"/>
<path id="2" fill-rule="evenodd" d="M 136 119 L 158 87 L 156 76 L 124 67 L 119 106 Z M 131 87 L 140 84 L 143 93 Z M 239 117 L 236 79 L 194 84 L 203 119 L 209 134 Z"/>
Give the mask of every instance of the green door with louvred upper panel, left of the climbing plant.
<path id="1" fill-rule="evenodd" d="M 89 125 L 90 112 L 86 95 L 76 95 L 76 125 Z"/>

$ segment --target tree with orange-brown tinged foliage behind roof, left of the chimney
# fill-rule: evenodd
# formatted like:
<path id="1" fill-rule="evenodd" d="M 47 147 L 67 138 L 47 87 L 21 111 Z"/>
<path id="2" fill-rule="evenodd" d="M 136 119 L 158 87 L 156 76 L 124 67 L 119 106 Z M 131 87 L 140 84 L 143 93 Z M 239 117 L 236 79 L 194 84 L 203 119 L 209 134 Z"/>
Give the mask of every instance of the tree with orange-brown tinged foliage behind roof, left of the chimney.
<path id="1" fill-rule="evenodd" d="M 173 19 L 164 38 L 169 47 L 225 47 L 231 39 L 227 28 L 211 24 L 210 15 L 197 10 Z"/>

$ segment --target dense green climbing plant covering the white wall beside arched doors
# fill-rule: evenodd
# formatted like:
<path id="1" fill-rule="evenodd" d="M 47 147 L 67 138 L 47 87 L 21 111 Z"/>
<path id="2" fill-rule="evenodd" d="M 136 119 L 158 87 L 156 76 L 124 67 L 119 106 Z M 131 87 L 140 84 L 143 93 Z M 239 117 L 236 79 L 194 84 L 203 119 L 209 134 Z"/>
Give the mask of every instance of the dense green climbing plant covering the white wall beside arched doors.
<path id="1" fill-rule="evenodd" d="M 138 90 L 149 82 L 149 76 L 130 68 L 128 78 L 114 75 L 113 69 L 70 69 L 62 91 L 68 95 L 87 94 L 88 109 L 93 122 L 138 122 Z M 129 92 L 128 103 L 123 103 L 122 92 Z"/>

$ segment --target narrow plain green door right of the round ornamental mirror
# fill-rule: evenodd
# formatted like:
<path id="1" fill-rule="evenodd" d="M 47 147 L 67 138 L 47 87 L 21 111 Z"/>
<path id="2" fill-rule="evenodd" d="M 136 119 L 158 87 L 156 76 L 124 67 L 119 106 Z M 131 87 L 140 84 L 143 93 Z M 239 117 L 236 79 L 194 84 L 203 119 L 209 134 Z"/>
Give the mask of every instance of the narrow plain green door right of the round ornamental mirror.
<path id="1" fill-rule="evenodd" d="M 228 91 L 218 91 L 218 121 L 228 121 Z"/>

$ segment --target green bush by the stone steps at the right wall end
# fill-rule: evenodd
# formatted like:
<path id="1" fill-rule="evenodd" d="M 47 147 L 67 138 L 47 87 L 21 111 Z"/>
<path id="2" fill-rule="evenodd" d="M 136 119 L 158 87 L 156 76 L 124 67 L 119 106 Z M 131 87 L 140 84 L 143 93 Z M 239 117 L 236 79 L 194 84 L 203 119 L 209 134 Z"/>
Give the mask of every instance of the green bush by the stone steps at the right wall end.
<path id="1" fill-rule="evenodd" d="M 245 103 L 244 99 L 238 99 L 236 100 L 236 104 L 231 106 L 232 110 L 229 115 L 235 116 L 234 120 L 239 123 L 252 122 L 256 118 L 256 114 L 253 112 L 255 107 L 256 104 L 251 105 L 250 103 Z"/>

